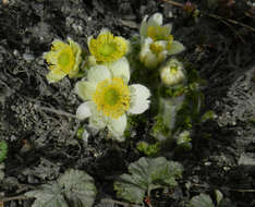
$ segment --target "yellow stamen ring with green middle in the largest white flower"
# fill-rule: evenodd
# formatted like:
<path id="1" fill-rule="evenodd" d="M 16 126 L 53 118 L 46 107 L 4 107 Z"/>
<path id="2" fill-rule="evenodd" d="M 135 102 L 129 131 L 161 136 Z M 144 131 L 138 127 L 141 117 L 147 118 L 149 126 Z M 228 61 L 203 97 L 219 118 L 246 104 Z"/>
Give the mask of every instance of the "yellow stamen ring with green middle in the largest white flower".
<path id="1" fill-rule="evenodd" d="M 105 80 L 97 84 L 93 101 L 98 111 L 112 119 L 118 119 L 130 108 L 130 89 L 121 77 Z"/>

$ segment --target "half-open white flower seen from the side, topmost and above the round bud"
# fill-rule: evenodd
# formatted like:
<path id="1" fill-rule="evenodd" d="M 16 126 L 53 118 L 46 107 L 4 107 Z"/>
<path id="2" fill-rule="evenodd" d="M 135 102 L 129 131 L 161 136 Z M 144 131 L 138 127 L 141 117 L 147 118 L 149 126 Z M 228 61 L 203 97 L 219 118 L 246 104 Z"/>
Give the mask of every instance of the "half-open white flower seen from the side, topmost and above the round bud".
<path id="1" fill-rule="evenodd" d="M 173 40 L 172 24 L 162 25 L 162 14 L 156 13 L 148 21 L 147 19 L 146 15 L 139 28 L 139 60 L 147 68 L 156 68 L 167 56 L 177 54 L 185 48 L 181 42 Z"/>

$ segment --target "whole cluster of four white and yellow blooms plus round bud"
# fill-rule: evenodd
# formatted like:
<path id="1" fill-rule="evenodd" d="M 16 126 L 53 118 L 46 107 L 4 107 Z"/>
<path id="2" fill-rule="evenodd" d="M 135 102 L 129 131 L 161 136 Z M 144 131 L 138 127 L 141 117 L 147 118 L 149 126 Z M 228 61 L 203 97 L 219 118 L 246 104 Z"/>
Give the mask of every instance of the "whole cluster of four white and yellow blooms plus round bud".
<path id="1" fill-rule="evenodd" d="M 68 42 L 56 39 L 51 50 L 44 53 L 50 70 L 47 80 L 56 83 L 66 75 L 70 78 L 82 77 L 75 84 L 75 93 L 83 100 L 76 110 L 76 118 L 88 119 L 89 127 L 107 129 L 113 138 L 122 141 L 127 115 L 145 112 L 155 90 L 149 90 L 143 84 L 129 84 L 131 72 L 154 68 L 154 74 L 167 87 L 184 85 L 186 82 L 185 70 L 180 61 L 172 58 L 162 64 L 170 56 L 184 50 L 184 46 L 174 40 L 171 31 L 172 24 L 163 25 L 160 13 L 149 19 L 146 15 L 139 29 L 138 52 L 131 47 L 134 42 L 114 36 L 106 28 L 96 38 L 88 37 L 88 52 L 71 38 L 68 38 Z M 132 56 L 137 59 L 131 59 Z M 134 61 L 139 61 L 142 64 L 136 65 L 141 66 L 133 66 Z M 142 77 L 141 82 L 143 78 L 146 77 Z"/>

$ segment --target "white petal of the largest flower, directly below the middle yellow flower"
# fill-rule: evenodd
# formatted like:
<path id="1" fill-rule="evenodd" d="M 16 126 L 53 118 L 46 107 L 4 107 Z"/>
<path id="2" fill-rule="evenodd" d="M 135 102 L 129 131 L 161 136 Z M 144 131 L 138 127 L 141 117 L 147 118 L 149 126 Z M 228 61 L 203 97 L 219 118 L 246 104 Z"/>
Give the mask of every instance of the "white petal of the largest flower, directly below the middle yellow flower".
<path id="1" fill-rule="evenodd" d="M 87 73 L 87 80 L 89 82 L 98 83 L 104 80 L 111 78 L 111 73 L 106 65 L 92 66 Z"/>

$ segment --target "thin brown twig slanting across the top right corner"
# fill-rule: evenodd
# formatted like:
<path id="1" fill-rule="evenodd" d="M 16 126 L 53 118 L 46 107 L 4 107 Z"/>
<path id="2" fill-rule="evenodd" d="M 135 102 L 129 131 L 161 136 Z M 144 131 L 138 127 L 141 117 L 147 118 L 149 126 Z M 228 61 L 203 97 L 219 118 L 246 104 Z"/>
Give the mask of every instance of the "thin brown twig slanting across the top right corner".
<path id="1" fill-rule="evenodd" d="M 175 2 L 175 1 L 172 1 L 172 0 L 161 0 L 161 1 L 167 2 L 167 3 L 170 3 L 170 4 L 175 5 L 175 7 L 178 7 L 178 8 L 181 8 L 181 9 L 184 8 L 184 4 L 179 3 L 179 2 Z M 254 27 L 248 26 L 248 25 L 246 25 L 246 24 L 243 24 L 243 23 L 241 23 L 241 22 L 238 22 L 238 21 L 235 21 L 235 20 L 226 19 L 226 17 L 222 17 L 222 16 L 219 16 L 219 15 L 216 15 L 216 14 L 210 14 L 210 13 L 203 12 L 203 11 L 201 11 L 201 13 L 204 14 L 204 15 L 210 16 L 210 17 L 212 17 L 212 19 L 217 19 L 217 20 L 219 20 L 219 21 L 227 21 L 227 22 L 229 22 L 229 23 L 232 23 L 232 24 L 235 24 L 235 25 L 239 25 L 239 26 L 243 26 L 243 27 L 245 27 L 245 28 L 247 28 L 247 29 L 250 29 L 250 31 L 252 31 L 252 32 L 255 33 L 255 28 L 254 28 Z"/>

